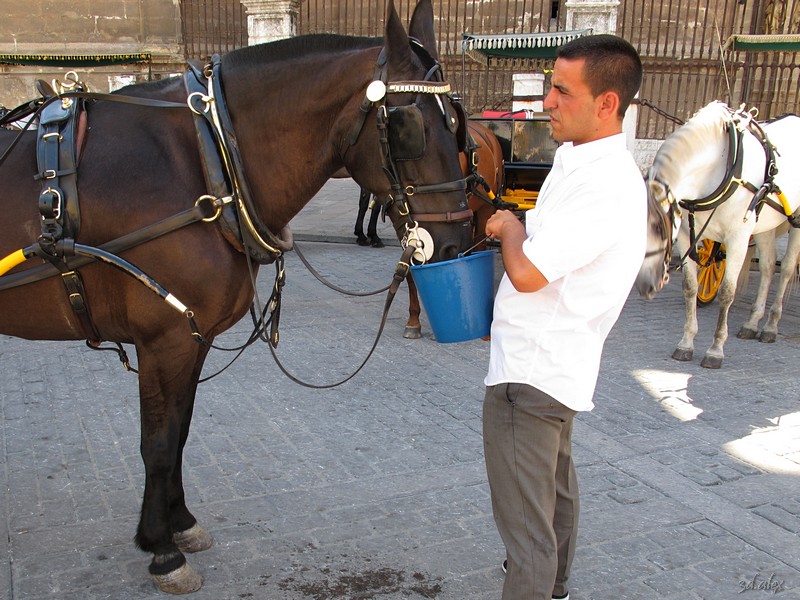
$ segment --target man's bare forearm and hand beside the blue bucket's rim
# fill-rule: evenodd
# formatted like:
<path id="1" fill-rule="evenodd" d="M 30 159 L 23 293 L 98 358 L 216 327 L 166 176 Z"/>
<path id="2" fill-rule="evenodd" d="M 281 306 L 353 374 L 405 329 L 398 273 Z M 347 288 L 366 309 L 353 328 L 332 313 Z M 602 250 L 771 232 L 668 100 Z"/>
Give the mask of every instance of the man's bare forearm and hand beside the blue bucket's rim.
<path id="1" fill-rule="evenodd" d="M 538 292 L 549 281 L 522 251 L 528 238 L 525 226 L 508 210 L 499 210 L 486 223 L 486 235 L 500 240 L 503 266 L 518 292 Z"/>

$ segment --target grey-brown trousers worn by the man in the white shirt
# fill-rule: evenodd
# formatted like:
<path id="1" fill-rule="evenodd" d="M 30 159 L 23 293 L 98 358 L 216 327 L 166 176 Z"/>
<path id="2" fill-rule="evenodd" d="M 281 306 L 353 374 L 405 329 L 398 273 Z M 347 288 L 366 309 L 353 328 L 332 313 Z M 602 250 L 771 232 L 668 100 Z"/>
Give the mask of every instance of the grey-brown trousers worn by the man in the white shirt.
<path id="1" fill-rule="evenodd" d="M 572 463 L 575 414 L 529 385 L 486 389 L 486 472 L 508 560 L 503 600 L 550 600 L 568 593 L 579 511 Z"/>

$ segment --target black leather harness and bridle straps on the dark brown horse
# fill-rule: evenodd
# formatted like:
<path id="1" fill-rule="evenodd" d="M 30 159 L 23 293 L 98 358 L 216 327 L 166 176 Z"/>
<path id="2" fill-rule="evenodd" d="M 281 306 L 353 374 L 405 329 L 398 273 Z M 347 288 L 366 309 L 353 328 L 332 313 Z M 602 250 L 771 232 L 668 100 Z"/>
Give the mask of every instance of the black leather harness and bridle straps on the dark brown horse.
<path id="1" fill-rule="evenodd" d="M 412 47 L 414 47 L 413 43 Z M 424 52 L 421 45 L 418 48 L 415 47 L 415 50 L 418 54 L 420 54 L 420 51 Z M 385 56 L 383 52 L 382 56 Z M 205 342 L 194 322 L 192 311 L 154 280 L 117 256 L 117 254 L 191 223 L 217 221 L 224 237 L 235 248 L 245 252 L 246 255 L 261 264 L 276 261 L 279 263 L 275 290 L 270 303 L 273 322 L 269 340 L 272 346 L 277 345 L 280 288 L 283 286 L 283 253 L 292 248 L 291 233 L 287 228 L 284 232 L 281 232 L 280 236 L 276 236 L 258 218 L 258 213 L 252 202 L 244 176 L 243 164 L 230 114 L 224 102 L 220 65 L 220 58 L 216 55 L 213 57 L 212 63 L 202 71 L 190 65 L 184 75 L 184 82 L 189 93 L 186 104 L 118 94 L 90 93 L 77 80 L 73 82 L 75 85 L 72 88 L 74 89 L 55 94 L 47 84 L 38 82 L 42 98 L 31 101 L 27 105 L 20 106 L 0 117 L 0 126 L 12 123 L 25 116 L 33 115 L 33 117 L 39 117 L 39 131 L 37 134 L 39 172 L 36 178 L 42 181 L 42 192 L 39 197 L 42 234 L 35 244 L 15 253 L 22 258 L 12 264 L 19 264 L 22 260 L 32 256 L 41 257 L 46 261 L 42 265 L 22 272 L 10 275 L 0 273 L 0 292 L 51 277 L 55 274 L 54 271 L 59 272 L 67 289 L 70 305 L 78 318 L 84 337 L 90 347 L 97 348 L 102 342 L 102 337 L 91 320 L 88 304 L 85 300 L 85 291 L 77 269 L 93 261 L 101 260 L 136 277 L 159 294 L 162 299 L 182 312 L 189 319 L 195 338 L 199 342 Z M 380 72 L 385 74 L 384 65 L 380 65 Z M 438 63 L 431 68 L 428 75 L 430 76 L 437 72 L 439 81 L 441 81 Z M 449 85 L 447 84 L 439 84 L 439 87 L 433 91 L 419 89 L 419 86 L 424 85 L 424 82 L 390 84 L 390 86 L 392 85 L 397 86 L 397 88 L 390 91 L 396 92 L 416 91 L 418 93 L 443 95 L 449 92 Z M 446 117 L 450 119 L 449 126 L 451 128 L 458 127 L 459 116 L 453 116 L 455 109 L 450 107 L 449 96 L 446 102 L 443 102 L 438 96 L 437 99 L 440 106 L 443 107 L 442 110 Z M 101 244 L 96 248 L 75 243 L 80 230 L 77 165 L 82 141 L 81 132 L 85 131 L 86 127 L 86 113 L 83 110 L 83 104 L 88 100 L 107 100 L 182 109 L 185 109 L 188 104 L 188 107 L 195 114 L 194 122 L 198 147 L 209 194 L 201 196 L 190 209 Z M 356 138 L 361 126 L 363 126 L 366 114 L 372 108 L 373 102 L 369 101 L 368 107 L 366 106 L 367 102 L 365 100 L 362 105 L 357 129 L 354 129 Z M 375 104 L 377 105 L 377 103 Z M 461 179 L 444 184 L 406 186 L 403 188 L 400 185 L 400 178 L 397 176 L 396 165 L 388 151 L 385 132 L 387 125 L 385 119 L 382 120 L 381 118 L 382 115 L 385 116 L 386 112 L 385 107 L 383 111 L 380 110 L 382 103 L 380 105 L 378 128 L 383 150 L 384 170 L 392 183 L 394 194 L 394 198 L 390 197 L 389 200 L 402 201 L 403 209 L 400 210 L 400 215 L 412 224 L 407 233 L 409 244 L 404 251 L 403 259 L 401 259 L 401 264 L 404 267 L 401 268 L 400 264 L 398 264 L 394 277 L 395 285 L 393 287 L 394 291 L 396 291 L 399 282 L 408 272 L 408 257 L 413 252 L 411 247 L 412 240 L 408 236 L 412 230 L 415 230 L 417 223 L 411 217 L 413 216 L 421 221 L 453 222 L 469 219 L 472 216 L 472 211 L 467 209 L 445 214 L 414 214 L 411 212 L 408 206 L 408 197 L 414 193 L 458 192 L 466 189 L 466 181 Z M 466 128 L 465 122 L 463 126 Z M 24 131 L 20 133 L 20 136 Z M 0 162 L 13 149 L 18 139 L 0 156 Z M 355 140 L 352 140 L 351 143 L 355 143 Z M 127 357 L 124 356 L 124 351 L 119 344 L 118 347 L 120 357 L 128 367 Z"/>

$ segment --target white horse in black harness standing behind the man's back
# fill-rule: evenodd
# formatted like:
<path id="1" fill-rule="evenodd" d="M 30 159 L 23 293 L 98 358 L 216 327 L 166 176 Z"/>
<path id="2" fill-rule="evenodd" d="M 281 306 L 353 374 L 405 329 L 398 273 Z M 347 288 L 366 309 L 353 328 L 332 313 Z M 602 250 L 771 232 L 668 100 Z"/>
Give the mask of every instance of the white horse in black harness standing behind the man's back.
<path id="1" fill-rule="evenodd" d="M 725 244 L 725 274 L 717 298 L 719 319 L 714 341 L 701 365 L 719 368 L 728 338 L 728 311 L 747 256 L 750 237 L 759 252 L 761 283 L 750 318 L 739 337 L 756 337 L 775 272 L 775 230 L 787 219 L 800 225 L 800 117 L 790 115 L 758 123 L 751 112 L 721 102 L 700 109 L 656 153 L 647 174 L 650 199 L 648 252 L 636 281 L 642 296 L 652 298 L 669 278 L 671 241 L 682 259 L 686 323 L 672 354 L 688 361 L 697 334 L 697 264 L 692 259 L 702 238 Z M 800 230 L 789 233 L 781 264 L 778 294 L 759 336 L 775 340 L 783 294 L 795 272 Z"/>

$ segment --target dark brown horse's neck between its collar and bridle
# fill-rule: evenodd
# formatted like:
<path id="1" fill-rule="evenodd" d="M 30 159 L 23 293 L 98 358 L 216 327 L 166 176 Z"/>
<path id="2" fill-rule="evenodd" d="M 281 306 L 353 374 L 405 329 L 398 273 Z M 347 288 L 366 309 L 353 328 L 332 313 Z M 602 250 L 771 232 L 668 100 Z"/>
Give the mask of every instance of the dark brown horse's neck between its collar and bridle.
<path id="1" fill-rule="evenodd" d="M 340 117 L 358 110 L 374 64 L 366 54 L 313 70 L 292 64 L 298 59 L 267 65 L 259 77 L 252 69 L 225 75 L 248 184 L 270 228 L 286 225 L 343 167 L 336 144 L 354 118 Z"/>

